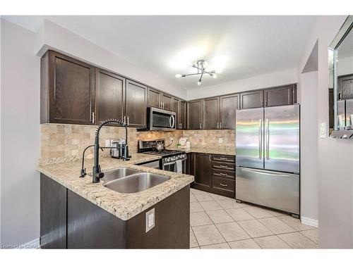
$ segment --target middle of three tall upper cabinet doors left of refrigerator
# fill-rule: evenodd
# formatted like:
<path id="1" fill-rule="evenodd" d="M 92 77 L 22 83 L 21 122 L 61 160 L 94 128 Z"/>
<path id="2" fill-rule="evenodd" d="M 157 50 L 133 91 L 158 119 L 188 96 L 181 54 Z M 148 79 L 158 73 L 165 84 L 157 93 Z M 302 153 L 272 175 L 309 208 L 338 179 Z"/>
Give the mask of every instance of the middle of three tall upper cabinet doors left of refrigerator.
<path id="1" fill-rule="evenodd" d="M 203 129 L 220 128 L 220 97 L 203 100 Z"/>

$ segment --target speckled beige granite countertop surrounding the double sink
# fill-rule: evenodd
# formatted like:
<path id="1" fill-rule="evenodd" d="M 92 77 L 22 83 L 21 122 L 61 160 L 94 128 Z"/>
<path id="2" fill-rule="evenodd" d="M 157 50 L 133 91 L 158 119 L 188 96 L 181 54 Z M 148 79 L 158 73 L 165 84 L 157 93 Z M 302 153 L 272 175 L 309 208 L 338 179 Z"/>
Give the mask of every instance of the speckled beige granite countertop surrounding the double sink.
<path id="1" fill-rule="evenodd" d="M 121 220 L 133 218 L 133 216 L 154 206 L 167 196 L 174 194 L 193 182 L 193 176 L 191 175 L 147 168 L 143 167 L 143 165 L 135 165 L 136 163 L 154 161 L 160 158 L 160 156 L 143 153 L 133 153 L 131 156 L 130 161 L 122 161 L 115 158 L 100 158 L 102 171 L 126 167 L 166 175 L 170 179 L 145 191 L 124 194 L 104 187 L 104 177 L 100 183 L 92 183 L 92 173 L 90 172 L 93 166 L 92 159 L 85 160 L 85 168 L 90 173 L 83 178 L 79 177 L 81 161 L 54 164 L 42 163 L 38 166 L 38 170 Z"/>

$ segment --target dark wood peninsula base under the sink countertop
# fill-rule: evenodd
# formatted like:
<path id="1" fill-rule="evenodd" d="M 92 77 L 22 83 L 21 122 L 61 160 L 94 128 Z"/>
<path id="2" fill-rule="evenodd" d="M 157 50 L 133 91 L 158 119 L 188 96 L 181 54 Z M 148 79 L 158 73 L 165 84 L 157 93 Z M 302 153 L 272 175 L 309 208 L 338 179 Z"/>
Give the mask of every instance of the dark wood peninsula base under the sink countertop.
<path id="1" fill-rule="evenodd" d="M 189 185 L 124 221 L 43 174 L 40 181 L 42 249 L 189 249 Z M 146 232 L 152 208 L 155 227 Z"/>

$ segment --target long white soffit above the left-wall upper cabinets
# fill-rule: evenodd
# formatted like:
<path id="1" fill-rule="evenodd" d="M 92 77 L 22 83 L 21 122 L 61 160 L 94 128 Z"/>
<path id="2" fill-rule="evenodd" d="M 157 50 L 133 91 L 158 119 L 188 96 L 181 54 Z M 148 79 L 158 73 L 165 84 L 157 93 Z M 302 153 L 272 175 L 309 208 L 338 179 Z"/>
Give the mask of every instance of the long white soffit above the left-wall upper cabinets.
<path id="1" fill-rule="evenodd" d="M 81 61 L 126 75 L 174 96 L 179 96 L 181 99 L 186 99 L 186 90 L 181 87 L 173 87 L 160 75 L 151 73 L 140 65 L 130 63 L 49 20 L 44 20 L 38 30 L 35 46 L 38 56 L 42 56 L 47 49 L 61 51 Z"/>

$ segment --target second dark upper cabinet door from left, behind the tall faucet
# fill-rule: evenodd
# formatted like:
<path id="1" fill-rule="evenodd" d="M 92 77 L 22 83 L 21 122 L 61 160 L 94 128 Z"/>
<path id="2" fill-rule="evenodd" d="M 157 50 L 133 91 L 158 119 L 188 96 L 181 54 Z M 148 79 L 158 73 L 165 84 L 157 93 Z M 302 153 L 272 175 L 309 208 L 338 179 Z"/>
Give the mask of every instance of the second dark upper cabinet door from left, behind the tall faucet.
<path id="1" fill-rule="evenodd" d="M 103 120 L 123 118 L 125 78 L 109 73 L 107 70 L 95 70 L 95 123 Z"/>

